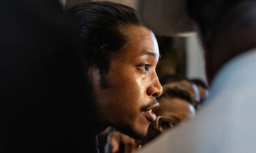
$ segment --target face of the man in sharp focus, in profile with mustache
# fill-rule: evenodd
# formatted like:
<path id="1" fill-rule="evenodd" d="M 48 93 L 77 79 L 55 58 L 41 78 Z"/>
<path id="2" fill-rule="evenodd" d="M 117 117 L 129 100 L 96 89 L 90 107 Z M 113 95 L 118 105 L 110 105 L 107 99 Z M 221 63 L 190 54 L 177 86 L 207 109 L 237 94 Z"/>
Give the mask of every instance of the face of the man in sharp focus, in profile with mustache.
<path id="1" fill-rule="evenodd" d="M 89 71 L 102 124 L 141 139 L 156 120 L 156 97 L 162 94 L 155 70 L 158 44 L 154 34 L 145 27 L 129 25 L 121 31 L 128 37 L 128 43 L 124 50 L 112 56 L 105 76 L 108 88 L 100 88 L 98 69 Z"/>

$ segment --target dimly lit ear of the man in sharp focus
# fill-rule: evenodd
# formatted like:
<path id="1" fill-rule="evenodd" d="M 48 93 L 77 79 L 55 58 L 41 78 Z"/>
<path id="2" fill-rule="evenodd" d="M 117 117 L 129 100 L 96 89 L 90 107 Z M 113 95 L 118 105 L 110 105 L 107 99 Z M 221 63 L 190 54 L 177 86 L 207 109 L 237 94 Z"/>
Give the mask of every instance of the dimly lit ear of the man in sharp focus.
<path id="1" fill-rule="evenodd" d="M 98 86 L 100 82 L 100 69 L 96 66 L 91 66 L 88 68 L 88 77 L 89 82 L 91 82 L 92 86 Z"/>

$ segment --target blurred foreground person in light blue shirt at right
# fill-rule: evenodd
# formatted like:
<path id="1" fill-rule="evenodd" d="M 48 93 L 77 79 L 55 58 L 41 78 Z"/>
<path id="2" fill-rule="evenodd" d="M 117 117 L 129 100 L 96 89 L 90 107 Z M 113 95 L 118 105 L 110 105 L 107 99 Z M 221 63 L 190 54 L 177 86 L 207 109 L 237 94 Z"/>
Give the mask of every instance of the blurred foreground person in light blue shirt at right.
<path id="1" fill-rule="evenodd" d="M 169 25 L 175 24 L 169 22 L 173 10 L 182 8 L 190 16 L 205 52 L 210 95 L 193 121 L 141 152 L 255 152 L 256 1 L 176 2 L 141 0 L 141 16 L 151 14 L 151 20 L 161 18 L 159 24 Z M 150 13 L 156 7 L 167 15 Z"/>

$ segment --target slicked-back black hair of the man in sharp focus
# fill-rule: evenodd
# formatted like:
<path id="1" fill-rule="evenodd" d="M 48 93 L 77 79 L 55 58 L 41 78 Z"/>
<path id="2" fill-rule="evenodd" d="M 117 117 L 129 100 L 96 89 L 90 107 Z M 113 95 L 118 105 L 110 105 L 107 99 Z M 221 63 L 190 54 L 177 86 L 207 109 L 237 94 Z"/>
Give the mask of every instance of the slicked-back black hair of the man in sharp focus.
<path id="1" fill-rule="evenodd" d="M 124 49 L 128 42 L 120 28 L 141 25 L 137 12 L 132 7 L 106 1 L 79 4 L 70 12 L 79 33 L 85 73 L 88 67 L 96 66 L 101 76 L 106 75 L 112 55 Z"/>

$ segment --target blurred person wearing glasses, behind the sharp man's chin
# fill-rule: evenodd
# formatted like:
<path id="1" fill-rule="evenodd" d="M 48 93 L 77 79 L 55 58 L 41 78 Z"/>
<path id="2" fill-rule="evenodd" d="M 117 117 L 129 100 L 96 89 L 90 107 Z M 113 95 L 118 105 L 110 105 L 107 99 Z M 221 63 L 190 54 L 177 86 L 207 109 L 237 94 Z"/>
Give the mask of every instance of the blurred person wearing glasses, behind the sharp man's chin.
<path id="1" fill-rule="evenodd" d="M 158 98 L 160 106 L 156 110 L 156 122 L 150 124 L 147 139 L 141 141 L 142 145 L 152 141 L 160 133 L 195 117 L 194 100 L 186 90 L 164 85 L 163 91 L 162 96 Z"/>

